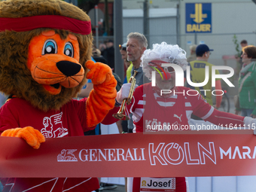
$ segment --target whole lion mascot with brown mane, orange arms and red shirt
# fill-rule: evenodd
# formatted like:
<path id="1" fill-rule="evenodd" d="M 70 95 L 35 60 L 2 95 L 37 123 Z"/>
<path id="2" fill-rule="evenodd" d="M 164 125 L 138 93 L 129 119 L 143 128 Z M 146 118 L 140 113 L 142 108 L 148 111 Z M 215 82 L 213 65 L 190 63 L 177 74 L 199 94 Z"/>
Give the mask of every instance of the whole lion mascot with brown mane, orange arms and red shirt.
<path id="1" fill-rule="evenodd" d="M 111 69 L 90 60 L 90 17 L 61 0 L 0 2 L 1 136 L 38 149 L 45 138 L 84 136 L 114 108 Z M 86 84 L 86 99 L 72 99 Z M 56 125 L 56 120 L 61 126 Z M 92 191 L 97 178 L 2 178 L 3 191 Z"/>

